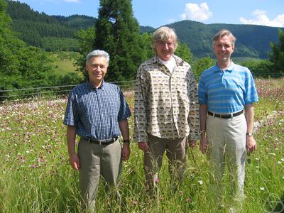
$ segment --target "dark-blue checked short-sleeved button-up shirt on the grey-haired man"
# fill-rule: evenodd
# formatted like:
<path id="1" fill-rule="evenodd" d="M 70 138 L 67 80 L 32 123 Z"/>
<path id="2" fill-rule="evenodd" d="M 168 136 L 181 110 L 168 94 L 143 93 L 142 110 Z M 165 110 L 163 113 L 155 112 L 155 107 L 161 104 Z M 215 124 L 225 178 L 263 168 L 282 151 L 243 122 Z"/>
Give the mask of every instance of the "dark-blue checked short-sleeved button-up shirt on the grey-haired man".
<path id="1" fill-rule="evenodd" d="M 63 123 L 75 126 L 79 136 L 104 140 L 120 136 L 119 121 L 129 116 L 129 106 L 116 84 L 103 81 L 96 89 L 87 81 L 70 92 Z"/>

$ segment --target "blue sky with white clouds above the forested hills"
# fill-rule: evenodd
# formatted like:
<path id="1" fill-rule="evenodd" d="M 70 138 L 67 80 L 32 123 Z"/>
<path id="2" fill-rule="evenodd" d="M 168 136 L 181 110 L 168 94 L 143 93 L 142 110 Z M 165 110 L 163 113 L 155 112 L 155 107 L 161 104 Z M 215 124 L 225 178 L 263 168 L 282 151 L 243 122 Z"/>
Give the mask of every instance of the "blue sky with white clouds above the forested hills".
<path id="1" fill-rule="evenodd" d="M 20 1 L 48 15 L 80 14 L 97 18 L 99 9 L 99 0 Z M 133 0 L 132 6 L 138 23 L 154 28 L 182 20 L 284 27 L 283 0 Z"/>

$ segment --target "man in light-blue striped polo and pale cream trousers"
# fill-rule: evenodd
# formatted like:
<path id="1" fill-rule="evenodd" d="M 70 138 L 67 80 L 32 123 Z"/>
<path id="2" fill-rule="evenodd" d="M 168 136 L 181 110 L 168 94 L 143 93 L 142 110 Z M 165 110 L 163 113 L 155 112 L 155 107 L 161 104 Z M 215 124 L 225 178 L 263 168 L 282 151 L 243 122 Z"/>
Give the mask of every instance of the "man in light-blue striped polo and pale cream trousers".
<path id="1" fill-rule="evenodd" d="M 225 163 L 230 173 L 233 197 L 243 200 L 246 151 L 251 153 L 256 149 L 253 102 L 258 102 L 258 94 L 249 69 L 231 61 L 235 41 L 228 30 L 214 35 L 213 50 L 217 62 L 202 72 L 198 91 L 200 149 L 202 153 L 209 153 L 220 202 L 222 190 L 219 186 Z"/>

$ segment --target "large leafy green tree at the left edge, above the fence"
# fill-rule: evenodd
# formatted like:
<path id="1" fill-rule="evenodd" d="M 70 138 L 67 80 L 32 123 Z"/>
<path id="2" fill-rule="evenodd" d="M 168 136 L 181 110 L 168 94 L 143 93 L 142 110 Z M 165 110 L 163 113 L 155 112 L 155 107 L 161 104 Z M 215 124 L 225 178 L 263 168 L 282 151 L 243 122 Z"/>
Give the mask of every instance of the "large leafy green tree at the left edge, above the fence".
<path id="1" fill-rule="evenodd" d="M 16 38 L 4 0 L 0 0 L 0 9 L 0 89 L 53 85 L 57 79 L 50 67 L 50 55 Z"/>

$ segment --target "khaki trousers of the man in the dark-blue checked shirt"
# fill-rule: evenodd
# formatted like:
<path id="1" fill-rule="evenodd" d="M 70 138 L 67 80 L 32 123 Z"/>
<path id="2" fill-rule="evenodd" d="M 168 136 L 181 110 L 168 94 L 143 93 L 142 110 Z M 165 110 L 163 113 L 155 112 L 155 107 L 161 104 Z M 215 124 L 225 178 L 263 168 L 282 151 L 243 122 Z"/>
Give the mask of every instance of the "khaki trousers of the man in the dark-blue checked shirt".
<path id="1" fill-rule="evenodd" d="M 78 155 L 81 196 L 84 204 L 93 212 L 100 176 L 107 184 L 116 187 L 121 173 L 121 145 L 119 139 L 102 146 L 81 138 Z"/>

